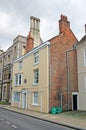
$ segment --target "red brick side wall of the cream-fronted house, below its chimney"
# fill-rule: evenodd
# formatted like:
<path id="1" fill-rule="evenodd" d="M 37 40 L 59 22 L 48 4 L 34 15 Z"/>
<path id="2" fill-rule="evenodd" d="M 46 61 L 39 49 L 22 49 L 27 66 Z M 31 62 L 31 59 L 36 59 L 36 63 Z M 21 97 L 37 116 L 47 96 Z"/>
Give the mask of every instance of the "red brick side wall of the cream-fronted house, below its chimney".
<path id="1" fill-rule="evenodd" d="M 64 31 L 64 29 L 63 29 Z M 61 31 L 59 31 L 61 32 Z M 50 108 L 60 106 L 62 94 L 62 107 L 64 110 L 68 108 L 68 88 L 67 88 L 67 64 L 66 51 L 71 49 L 77 42 L 76 37 L 72 33 L 69 26 L 65 27 L 65 33 L 52 38 L 50 40 Z M 77 68 L 76 68 L 76 51 L 67 53 L 68 63 L 70 67 L 70 109 L 71 109 L 71 93 L 77 91 Z"/>

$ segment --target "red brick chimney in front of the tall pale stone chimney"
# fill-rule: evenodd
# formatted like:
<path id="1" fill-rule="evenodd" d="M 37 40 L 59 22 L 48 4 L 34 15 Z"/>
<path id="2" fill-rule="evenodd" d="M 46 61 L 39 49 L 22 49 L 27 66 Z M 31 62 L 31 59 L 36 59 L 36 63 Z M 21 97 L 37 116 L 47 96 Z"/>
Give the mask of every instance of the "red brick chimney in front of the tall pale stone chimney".
<path id="1" fill-rule="evenodd" d="M 33 49 L 34 39 L 31 36 L 31 32 L 29 32 L 27 39 L 26 39 L 26 53 Z"/>

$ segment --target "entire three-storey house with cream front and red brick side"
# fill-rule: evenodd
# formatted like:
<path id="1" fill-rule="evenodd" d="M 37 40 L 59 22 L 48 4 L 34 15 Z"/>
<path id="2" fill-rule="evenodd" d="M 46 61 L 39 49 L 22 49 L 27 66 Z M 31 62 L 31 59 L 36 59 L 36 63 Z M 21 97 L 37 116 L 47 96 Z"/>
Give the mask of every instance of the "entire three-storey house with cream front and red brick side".
<path id="1" fill-rule="evenodd" d="M 36 20 L 35 27 L 39 27 L 39 19 Z M 13 63 L 12 106 L 46 113 L 55 106 L 63 110 L 77 109 L 74 44 L 78 40 L 70 29 L 67 17 L 61 15 L 59 35 L 44 43 L 39 39 L 35 40 L 30 29 L 26 54 Z"/>

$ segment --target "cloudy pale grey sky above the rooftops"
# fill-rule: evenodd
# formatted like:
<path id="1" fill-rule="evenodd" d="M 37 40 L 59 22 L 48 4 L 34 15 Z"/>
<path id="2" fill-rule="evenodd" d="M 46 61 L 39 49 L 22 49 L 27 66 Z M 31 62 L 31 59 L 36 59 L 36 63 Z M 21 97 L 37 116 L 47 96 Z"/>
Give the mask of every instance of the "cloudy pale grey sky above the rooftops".
<path id="1" fill-rule="evenodd" d="M 28 35 L 30 16 L 40 19 L 43 41 L 58 35 L 61 14 L 80 40 L 85 35 L 86 0 L 0 0 L 0 49 L 6 51 L 15 37 Z"/>

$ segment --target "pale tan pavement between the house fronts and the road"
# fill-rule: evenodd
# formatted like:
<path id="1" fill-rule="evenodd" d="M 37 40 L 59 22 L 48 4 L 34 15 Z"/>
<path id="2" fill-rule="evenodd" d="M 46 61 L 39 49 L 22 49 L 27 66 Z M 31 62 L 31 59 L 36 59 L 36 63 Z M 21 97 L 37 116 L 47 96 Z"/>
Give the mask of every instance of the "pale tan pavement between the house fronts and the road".
<path id="1" fill-rule="evenodd" d="M 6 109 L 9 111 L 13 111 L 16 113 L 21 113 L 39 120 L 51 122 L 54 124 L 62 125 L 69 127 L 71 129 L 76 130 L 86 130 L 86 119 L 80 119 L 77 117 L 72 116 L 66 116 L 65 114 L 46 114 L 46 113 L 40 113 L 40 112 L 34 112 L 30 110 L 24 110 L 19 108 L 14 108 L 10 105 L 0 105 L 0 108 Z"/>

